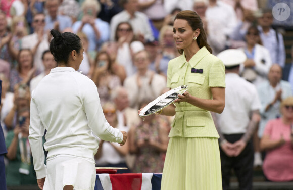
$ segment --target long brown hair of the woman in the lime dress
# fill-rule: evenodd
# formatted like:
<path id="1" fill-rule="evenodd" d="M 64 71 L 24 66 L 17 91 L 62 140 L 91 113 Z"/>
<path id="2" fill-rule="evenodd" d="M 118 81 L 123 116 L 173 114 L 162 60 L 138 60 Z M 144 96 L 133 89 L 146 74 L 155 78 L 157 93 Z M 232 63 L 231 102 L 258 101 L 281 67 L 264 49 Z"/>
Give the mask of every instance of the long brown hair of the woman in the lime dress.
<path id="1" fill-rule="evenodd" d="M 210 53 L 212 53 L 212 49 L 210 47 L 210 45 L 207 43 L 207 35 L 206 32 L 203 28 L 203 22 L 201 17 L 194 11 L 180 11 L 174 21 L 176 19 L 183 19 L 186 20 L 188 22 L 188 25 L 192 28 L 193 31 L 195 31 L 196 29 L 200 29 L 200 35 L 197 38 L 197 43 L 199 45 L 200 48 L 203 48 L 203 46 L 206 46 L 206 48 L 208 49 L 208 51 Z M 183 54 L 183 49 L 178 50 L 180 54 Z"/>

